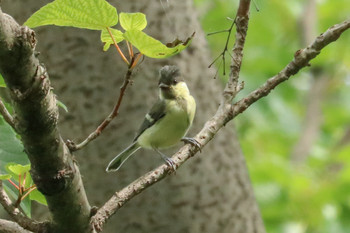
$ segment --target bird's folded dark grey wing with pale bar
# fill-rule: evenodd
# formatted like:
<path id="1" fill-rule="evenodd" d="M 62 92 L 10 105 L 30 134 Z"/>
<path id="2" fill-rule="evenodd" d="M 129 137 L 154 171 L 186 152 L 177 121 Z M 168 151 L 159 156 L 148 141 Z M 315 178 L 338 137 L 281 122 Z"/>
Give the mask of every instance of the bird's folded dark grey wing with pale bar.
<path id="1" fill-rule="evenodd" d="M 145 119 L 143 120 L 143 123 L 138 130 L 136 137 L 134 138 L 134 142 L 146 129 L 154 125 L 159 119 L 165 116 L 165 108 L 166 105 L 164 100 L 158 100 L 158 102 L 153 105 L 151 110 L 146 114 Z"/>

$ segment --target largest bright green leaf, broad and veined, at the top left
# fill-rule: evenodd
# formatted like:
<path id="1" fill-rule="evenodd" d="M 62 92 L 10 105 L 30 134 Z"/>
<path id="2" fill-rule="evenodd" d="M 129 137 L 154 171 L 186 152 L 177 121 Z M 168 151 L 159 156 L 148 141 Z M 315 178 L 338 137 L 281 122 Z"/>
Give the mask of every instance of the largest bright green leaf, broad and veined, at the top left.
<path id="1" fill-rule="evenodd" d="M 102 30 L 118 23 L 117 9 L 105 0 L 56 0 L 35 12 L 24 25 L 71 26 Z"/>

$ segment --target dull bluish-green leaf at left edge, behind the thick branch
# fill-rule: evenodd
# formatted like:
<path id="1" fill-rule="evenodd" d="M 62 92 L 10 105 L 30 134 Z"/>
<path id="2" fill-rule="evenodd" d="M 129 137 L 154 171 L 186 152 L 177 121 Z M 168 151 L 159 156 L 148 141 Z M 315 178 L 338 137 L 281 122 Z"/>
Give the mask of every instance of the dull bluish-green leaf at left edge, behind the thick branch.
<path id="1" fill-rule="evenodd" d="M 22 142 L 0 115 L 0 172 L 7 173 L 5 166 L 10 162 L 25 165 L 29 160 Z"/>

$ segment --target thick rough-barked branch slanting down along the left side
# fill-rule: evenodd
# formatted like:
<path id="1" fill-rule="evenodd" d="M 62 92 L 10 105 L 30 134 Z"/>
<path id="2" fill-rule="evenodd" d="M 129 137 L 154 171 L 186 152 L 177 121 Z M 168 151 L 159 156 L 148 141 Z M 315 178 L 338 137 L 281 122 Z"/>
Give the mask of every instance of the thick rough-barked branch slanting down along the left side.
<path id="1" fill-rule="evenodd" d="M 79 169 L 58 132 L 56 98 L 35 45 L 34 32 L 0 9 L 0 73 L 11 94 L 33 181 L 46 197 L 52 231 L 84 232 L 90 205 Z"/>

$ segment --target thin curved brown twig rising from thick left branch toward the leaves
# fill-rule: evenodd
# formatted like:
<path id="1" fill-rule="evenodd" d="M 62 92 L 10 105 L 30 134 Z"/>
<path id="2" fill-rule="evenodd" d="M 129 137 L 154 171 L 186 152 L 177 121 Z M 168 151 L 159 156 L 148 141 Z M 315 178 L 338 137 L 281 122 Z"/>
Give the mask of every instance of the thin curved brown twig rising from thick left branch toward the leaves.
<path id="1" fill-rule="evenodd" d="M 132 61 L 131 64 L 133 63 L 134 62 Z M 130 83 L 131 75 L 132 75 L 132 68 L 129 67 L 128 71 L 125 74 L 123 85 L 120 87 L 119 97 L 116 105 L 114 106 L 112 112 L 107 116 L 107 118 L 97 127 L 97 129 L 78 145 L 74 144 L 74 142 L 70 140 L 67 140 L 66 144 L 71 151 L 80 150 L 81 148 L 86 146 L 89 142 L 97 138 L 101 134 L 101 132 L 109 125 L 109 123 L 118 115 L 119 107 L 122 103 L 125 90 L 128 87 L 128 84 Z"/>

